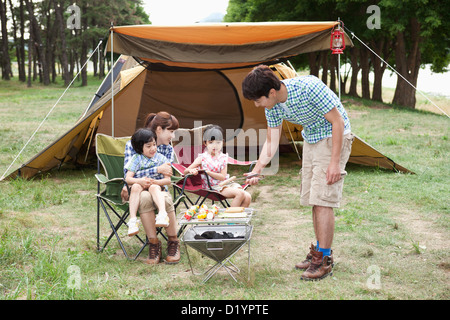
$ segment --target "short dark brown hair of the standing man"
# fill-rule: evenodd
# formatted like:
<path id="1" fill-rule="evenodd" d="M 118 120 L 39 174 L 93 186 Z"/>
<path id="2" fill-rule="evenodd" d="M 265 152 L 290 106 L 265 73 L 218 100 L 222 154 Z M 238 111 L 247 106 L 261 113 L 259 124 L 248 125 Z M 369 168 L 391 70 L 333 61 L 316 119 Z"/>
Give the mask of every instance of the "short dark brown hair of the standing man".
<path id="1" fill-rule="evenodd" d="M 268 97 L 270 89 L 278 91 L 280 87 L 280 79 L 266 65 L 253 68 L 242 81 L 242 93 L 248 100 L 257 100 L 262 96 Z"/>

